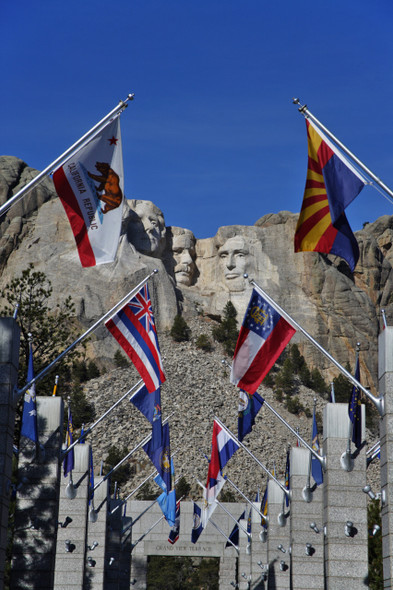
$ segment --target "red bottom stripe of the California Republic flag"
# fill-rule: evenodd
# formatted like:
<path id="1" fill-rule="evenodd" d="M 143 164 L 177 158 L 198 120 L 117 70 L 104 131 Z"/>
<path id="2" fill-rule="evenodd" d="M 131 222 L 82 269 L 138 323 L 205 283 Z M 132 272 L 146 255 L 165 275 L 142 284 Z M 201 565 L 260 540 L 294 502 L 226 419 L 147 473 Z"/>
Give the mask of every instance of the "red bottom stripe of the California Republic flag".
<path id="1" fill-rule="evenodd" d="M 90 245 L 86 224 L 63 167 L 53 174 L 53 183 L 70 222 L 82 266 L 95 266 L 96 259 Z"/>

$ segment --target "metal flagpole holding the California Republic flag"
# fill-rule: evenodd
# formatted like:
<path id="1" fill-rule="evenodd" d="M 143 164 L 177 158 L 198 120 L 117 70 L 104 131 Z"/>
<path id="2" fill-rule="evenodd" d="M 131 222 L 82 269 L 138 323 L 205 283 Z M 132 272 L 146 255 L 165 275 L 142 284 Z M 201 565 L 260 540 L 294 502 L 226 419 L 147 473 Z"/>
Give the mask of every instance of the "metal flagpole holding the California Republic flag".
<path id="1" fill-rule="evenodd" d="M 15 205 L 18 201 L 23 199 L 23 197 L 29 193 L 33 188 L 35 188 L 42 180 L 51 172 L 53 172 L 56 168 L 59 168 L 62 164 L 64 164 L 75 152 L 77 152 L 83 144 L 85 144 L 88 140 L 92 139 L 94 135 L 99 133 L 103 127 L 105 127 L 106 123 L 113 118 L 117 113 L 122 112 L 128 105 L 126 104 L 129 100 L 133 100 L 134 94 L 129 94 L 125 100 L 121 100 L 119 104 L 112 109 L 101 121 L 99 121 L 94 127 L 90 129 L 85 135 L 83 135 L 78 141 L 76 141 L 68 150 L 66 150 L 61 156 L 56 158 L 54 162 L 49 164 L 37 176 L 35 176 L 30 182 L 26 184 L 20 191 L 13 195 L 8 201 L 6 201 L 0 207 L 0 218 L 4 213 L 8 211 L 13 205 Z"/>

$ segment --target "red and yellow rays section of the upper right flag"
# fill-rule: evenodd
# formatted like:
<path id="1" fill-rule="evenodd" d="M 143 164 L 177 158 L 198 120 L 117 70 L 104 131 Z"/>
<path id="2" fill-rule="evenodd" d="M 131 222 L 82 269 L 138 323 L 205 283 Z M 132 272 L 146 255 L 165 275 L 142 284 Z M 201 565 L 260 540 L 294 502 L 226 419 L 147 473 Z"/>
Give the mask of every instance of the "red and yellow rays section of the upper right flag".
<path id="1" fill-rule="evenodd" d="M 295 233 L 295 252 L 328 254 L 338 230 L 332 224 L 322 168 L 333 152 L 314 127 L 308 121 L 306 123 L 308 169 L 303 205 Z"/>

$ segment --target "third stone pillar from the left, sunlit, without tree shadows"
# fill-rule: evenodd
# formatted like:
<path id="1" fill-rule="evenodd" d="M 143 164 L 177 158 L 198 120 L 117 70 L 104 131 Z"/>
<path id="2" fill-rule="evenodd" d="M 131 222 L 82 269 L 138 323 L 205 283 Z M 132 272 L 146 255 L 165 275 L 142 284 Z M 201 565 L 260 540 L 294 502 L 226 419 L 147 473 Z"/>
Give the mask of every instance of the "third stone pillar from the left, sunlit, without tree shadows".
<path id="1" fill-rule="evenodd" d="M 74 452 L 72 479 L 77 494 L 73 499 L 67 496 L 70 474 L 62 473 L 53 590 L 80 590 L 85 581 L 90 445 L 78 444 Z"/>

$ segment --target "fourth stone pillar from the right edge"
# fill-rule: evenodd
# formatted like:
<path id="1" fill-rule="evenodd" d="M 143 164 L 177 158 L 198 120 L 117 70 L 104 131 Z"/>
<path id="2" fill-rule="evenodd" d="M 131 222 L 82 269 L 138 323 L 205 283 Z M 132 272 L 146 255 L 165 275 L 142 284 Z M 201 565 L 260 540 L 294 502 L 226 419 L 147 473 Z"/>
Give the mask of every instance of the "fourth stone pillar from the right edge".
<path id="1" fill-rule="evenodd" d="M 282 513 L 284 492 L 273 480 L 269 481 L 268 486 L 268 588 L 289 590 L 291 557 L 289 523 L 286 521 L 283 527 L 278 523 L 278 516 Z M 279 545 L 282 546 L 282 550 L 278 549 Z"/>

